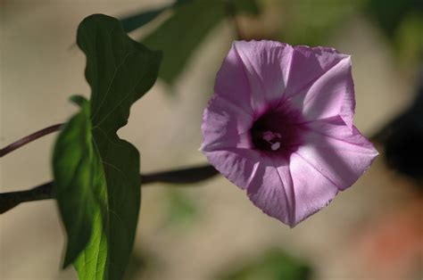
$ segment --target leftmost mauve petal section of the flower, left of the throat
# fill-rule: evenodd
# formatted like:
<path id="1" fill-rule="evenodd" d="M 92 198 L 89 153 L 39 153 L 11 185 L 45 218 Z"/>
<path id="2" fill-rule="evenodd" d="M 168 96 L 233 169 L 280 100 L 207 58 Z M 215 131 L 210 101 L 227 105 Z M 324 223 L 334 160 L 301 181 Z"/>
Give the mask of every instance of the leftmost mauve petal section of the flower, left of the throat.
<path id="1" fill-rule="evenodd" d="M 202 151 L 251 147 L 253 117 L 226 99 L 214 95 L 203 113 Z"/>

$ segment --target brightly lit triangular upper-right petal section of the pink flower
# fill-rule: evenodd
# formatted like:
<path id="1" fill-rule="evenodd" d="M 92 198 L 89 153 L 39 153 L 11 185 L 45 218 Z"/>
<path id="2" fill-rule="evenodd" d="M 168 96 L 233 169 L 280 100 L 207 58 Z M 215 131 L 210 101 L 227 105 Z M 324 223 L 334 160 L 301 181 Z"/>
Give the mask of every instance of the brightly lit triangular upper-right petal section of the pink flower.
<path id="1" fill-rule="evenodd" d="M 286 103 L 302 111 L 306 120 L 339 115 L 352 128 L 355 100 L 350 57 L 346 56 L 337 62 L 299 93 L 289 97 Z"/>

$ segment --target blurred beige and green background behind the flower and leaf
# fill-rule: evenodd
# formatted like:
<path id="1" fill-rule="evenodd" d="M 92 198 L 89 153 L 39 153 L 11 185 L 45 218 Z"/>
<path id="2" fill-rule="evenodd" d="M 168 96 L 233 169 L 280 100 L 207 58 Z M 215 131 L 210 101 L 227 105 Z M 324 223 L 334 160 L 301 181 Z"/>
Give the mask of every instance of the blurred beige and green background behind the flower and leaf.
<path id="1" fill-rule="evenodd" d="M 120 136 L 143 173 L 206 162 L 203 108 L 236 39 L 330 45 L 352 54 L 355 124 L 381 155 L 328 208 L 294 229 L 269 218 L 223 177 L 143 188 L 126 279 L 423 278 L 423 2 L 421 0 L 0 0 L 0 146 L 66 121 L 88 95 L 75 45 L 91 13 L 122 19 L 164 51 L 160 79 Z M 235 16 L 234 16 L 235 14 Z M 50 181 L 55 135 L 0 161 L 0 192 Z M 54 201 L 0 217 L 0 279 L 77 279 L 61 270 Z"/>

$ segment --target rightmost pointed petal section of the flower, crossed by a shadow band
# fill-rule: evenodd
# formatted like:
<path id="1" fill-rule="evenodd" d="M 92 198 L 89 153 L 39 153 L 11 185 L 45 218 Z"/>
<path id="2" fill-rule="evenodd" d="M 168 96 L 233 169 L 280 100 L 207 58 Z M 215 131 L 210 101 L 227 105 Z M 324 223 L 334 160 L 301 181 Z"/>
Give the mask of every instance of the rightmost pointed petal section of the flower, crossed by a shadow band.
<path id="1" fill-rule="evenodd" d="M 303 145 L 295 152 L 340 190 L 351 186 L 377 157 L 373 144 L 339 116 L 308 124 Z"/>

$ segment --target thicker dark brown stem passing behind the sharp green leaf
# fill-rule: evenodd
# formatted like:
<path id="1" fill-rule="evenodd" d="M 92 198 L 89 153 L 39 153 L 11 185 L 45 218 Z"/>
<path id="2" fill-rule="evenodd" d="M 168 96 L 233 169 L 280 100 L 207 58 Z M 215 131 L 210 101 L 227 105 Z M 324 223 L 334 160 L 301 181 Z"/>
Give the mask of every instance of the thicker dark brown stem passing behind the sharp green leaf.
<path id="1" fill-rule="evenodd" d="M 150 174 L 141 174 L 142 185 L 152 183 L 194 184 L 217 175 L 219 172 L 211 165 L 194 168 L 176 169 Z M 22 202 L 35 202 L 54 198 L 53 182 L 37 185 L 26 191 L 0 194 L 0 214 L 11 210 Z"/>

